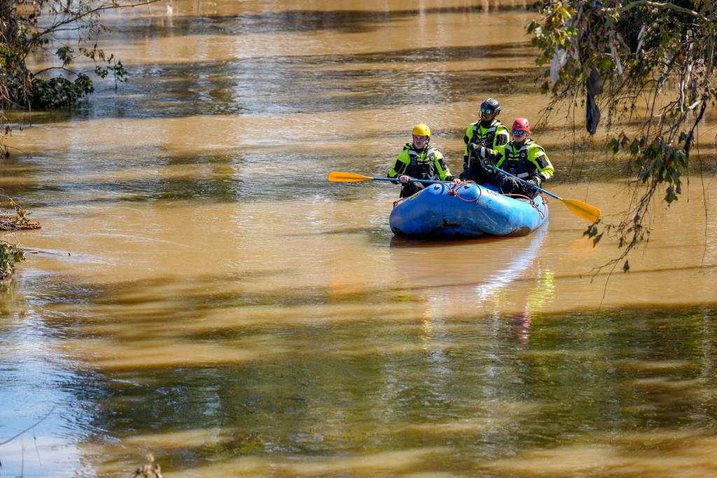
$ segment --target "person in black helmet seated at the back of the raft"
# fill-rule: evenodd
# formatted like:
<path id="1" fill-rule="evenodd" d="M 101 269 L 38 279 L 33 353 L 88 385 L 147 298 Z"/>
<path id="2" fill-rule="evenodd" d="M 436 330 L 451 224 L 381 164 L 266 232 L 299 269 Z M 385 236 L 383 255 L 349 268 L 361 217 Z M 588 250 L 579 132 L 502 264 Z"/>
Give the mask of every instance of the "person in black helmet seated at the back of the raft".
<path id="1" fill-rule="evenodd" d="M 496 119 L 499 114 L 498 100 L 488 98 L 480 104 L 480 121 L 470 123 L 466 128 L 461 181 L 475 181 L 478 184 L 495 182 L 495 174 L 485 169 L 480 158 L 495 155 L 498 146 L 508 144 L 511 139 L 508 128 Z"/>

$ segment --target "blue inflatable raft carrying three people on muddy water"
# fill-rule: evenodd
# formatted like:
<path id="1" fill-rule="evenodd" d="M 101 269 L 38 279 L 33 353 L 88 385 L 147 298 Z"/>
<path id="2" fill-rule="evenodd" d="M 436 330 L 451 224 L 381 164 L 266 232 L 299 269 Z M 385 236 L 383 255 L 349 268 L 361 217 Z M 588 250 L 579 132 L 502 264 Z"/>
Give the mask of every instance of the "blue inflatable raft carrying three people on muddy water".
<path id="1" fill-rule="evenodd" d="M 543 196 L 508 197 L 473 182 L 429 184 L 399 202 L 389 224 L 396 235 L 425 238 L 526 235 L 548 219 Z"/>

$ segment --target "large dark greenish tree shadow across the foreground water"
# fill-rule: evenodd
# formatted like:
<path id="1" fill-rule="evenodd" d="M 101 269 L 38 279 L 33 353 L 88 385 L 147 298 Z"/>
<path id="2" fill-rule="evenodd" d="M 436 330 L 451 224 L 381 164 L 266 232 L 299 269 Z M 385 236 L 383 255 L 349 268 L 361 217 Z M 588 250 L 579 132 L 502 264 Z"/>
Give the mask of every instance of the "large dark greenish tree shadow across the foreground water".
<path id="1" fill-rule="evenodd" d="M 207 353 L 227 347 L 256 354 L 244 362 L 227 356 L 204 365 L 192 364 L 191 352 L 171 367 L 100 365 L 100 373 L 72 389 L 79 402 L 95 404 L 92 426 L 112 430 L 114 438 L 204 434 L 206 441 L 196 446 L 154 443 L 171 469 L 237 454 L 336 457 L 431 446 L 485 460 L 576 440 L 591 443 L 598 434 L 717 429 L 716 364 L 705 355 L 717 339 L 715 304 L 534 314 L 527 326 L 512 316 L 497 322 L 380 316 L 327 322 L 320 309 L 310 313 L 313 320 L 250 323 L 242 314 L 248 306 L 331 305 L 331 295 L 320 289 L 197 294 L 199 282 L 160 313 L 126 309 L 141 306 L 143 291 L 157 285 L 125 284 L 124 290 L 85 296 L 88 306 L 104 310 L 107 329 L 80 323 L 63 333 L 72 342 L 101 332 L 126 346 L 139 341 L 153 347 L 159 339 L 177 351 L 186 344 Z M 135 298 L 122 299 L 125 294 Z M 364 305 L 384 300 L 353 297 Z M 216 323 L 187 327 L 222 308 L 236 311 L 224 329 Z M 118 333 L 111 333 L 113 327 Z M 529 344 L 521 341 L 526 333 Z M 475 422 L 461 427 L 467 416 Z M 207 429 L 214 430 L 211 438 Z M 440 469 L 454 466 L 446 462 Z"/>

